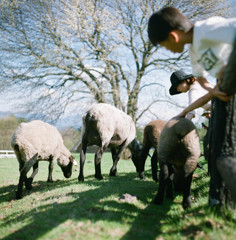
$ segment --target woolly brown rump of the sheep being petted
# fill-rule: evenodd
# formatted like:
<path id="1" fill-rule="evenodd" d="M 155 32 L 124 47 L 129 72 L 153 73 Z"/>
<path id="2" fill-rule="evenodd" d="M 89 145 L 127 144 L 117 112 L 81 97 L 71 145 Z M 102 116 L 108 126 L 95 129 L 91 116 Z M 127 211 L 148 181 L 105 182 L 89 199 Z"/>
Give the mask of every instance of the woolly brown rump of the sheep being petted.
<path id="1" fill-rule="evenodd" d="M 185 165 L 188 174 L 195 170 L 200 153 L 200 139 L 192 121 L 173 118 L 165 125 L 158 146 L 160 161 L 168 161 L 175 168 Z"/>

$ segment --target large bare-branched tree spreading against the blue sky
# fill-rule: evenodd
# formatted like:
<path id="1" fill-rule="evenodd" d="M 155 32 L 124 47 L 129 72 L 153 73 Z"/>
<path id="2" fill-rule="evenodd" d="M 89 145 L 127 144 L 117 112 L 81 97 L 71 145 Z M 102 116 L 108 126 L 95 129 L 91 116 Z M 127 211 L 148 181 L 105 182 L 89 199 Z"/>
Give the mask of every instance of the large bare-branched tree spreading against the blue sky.
<path id="1" fill-rule="evenodd" d="M 136 121 L 143 89 L 164 90 L 158 70 L 186 65 L 148 41 L 147 21 L 163 6 L 180 8 L 193 21 L 225 15 L 223 0 L 2 0 L 0 88 L 27 98 L 28 111 L 59 118 L 83 101 L 112 103 Z M 11 95 L 12 96 L 12 95 Z"/>

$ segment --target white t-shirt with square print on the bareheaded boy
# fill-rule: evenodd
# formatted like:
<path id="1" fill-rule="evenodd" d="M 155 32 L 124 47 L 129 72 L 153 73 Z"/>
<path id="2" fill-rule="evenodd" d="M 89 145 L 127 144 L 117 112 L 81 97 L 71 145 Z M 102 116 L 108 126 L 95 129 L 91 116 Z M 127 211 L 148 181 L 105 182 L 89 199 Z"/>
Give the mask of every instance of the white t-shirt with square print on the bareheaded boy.
<path id="1" fill-rule="evenodd" d="M 197 21 L 193 29 L 193 42 L 189 46 L 193 75 L 207 78 L 210 73 L 217 78 L 228 62 L 235 37 L 236 18 L 211 17 Z"/>

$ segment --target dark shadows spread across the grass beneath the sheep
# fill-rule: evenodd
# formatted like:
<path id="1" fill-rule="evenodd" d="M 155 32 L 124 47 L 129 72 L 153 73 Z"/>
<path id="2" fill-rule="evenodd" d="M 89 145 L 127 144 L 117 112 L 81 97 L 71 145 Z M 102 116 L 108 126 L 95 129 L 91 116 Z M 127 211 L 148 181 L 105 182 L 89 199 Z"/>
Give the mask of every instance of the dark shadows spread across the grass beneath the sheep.
<path id="1" fill-rule="evenodd" d="M 38 193 L 50 192 L 50 190 L 56 190 L 57 188 L 69 187 L 75 184 L 92 188 L 80 191 L 66 192 L 65 195 L 59 194 L 57 196 L 49 195 L 48 198 L 44 198 L 42 205 L 37 206 L 25 212 L 24 215 L 8 215 L 4 218 L 4 221 L 0 223 L 0 226 L 7 226 L 8 224 L 13 224 L 17 222 L 22 222 L 22 227 L 15 232 L 9 233 L 8 236 L 2 238 L 4 240 L 14 240 L 14 239 L 39 239 L 54 228 L 60 226 L 67 228 L 65 223 L 67 221 L 76 221 L 77 224 L 68 223 L 67 231 L 73 231 L 76 233 L 75 239 L 86 239 L 86 235 L 78 238 L 78 234 L 85 234 L 86 230 L 93 227 L 89 222 L 96 223 L 99 221 L 108 222 L 126 222 L 130 227 L 125 235 L 120 236 L 121 240 L 130 239 L 156 239 L 158 236 L 163 234 L 163 226 L 170 225 L 174 226 L 173 229 L 166 230 L 165 234 L 178 234 L 182 236 L 193 237 L 200 232 L 201 228 L 211 228 L 211 223 L 200 221 L 198 224 L 190 224 L 184 229 L 178 229 L 178 223 L 180 218 L 186 216 L 194 215 L 194 217 L 199 217 L 201 219 L 205 218 L 205 210 L 207 207 L 204 205 L 200 207 L 193 207 L 192 209 L 179 211 L 172 216 L 168 213 L 170 208 L 180 206 L 181 203 L 172 202 L 165 199 L 162 206 L 154 205 L 151 201 L 154 198 L 158 184 L 153 181 L 141 181 L 137 177 L 137 173 L 127 173 L 120 174 L 118 177 L 109 177 L 104 174 L 104 180 L 98 181 L 94 179 L 94 176 L 87 176 L 85 182 L 78 182 L 77 178 L 72 178 L 68 180 L 55 181 L 54 183 L 47 183 L 43 181 L 35 182 L 32 191 Z M 151 172 L 147 171 L 147 178 L 151 178 Z M 198 181 L 202 181 L 200 176 Z M 201 184 L 204 185 L 204 182 Z M 197 193 L 198 190 L 204 189 L 204 186 L 198 187 L 194 190 Z M 4 195 L 3 201 L 9 201 L 15 197 L 16 186 L 10 185 L 4 188 L 0 188 L 0 196 Z M 31 191 L 24 191 L 25 195 L 29 195 Z M 125 194 L 136 196 L 140 204 L 134 204 L 129 202 L 122 202 L 119 198 Z M 114 197 L 115 195 L 115 197 Z M 111 197 L 112 196 L 112 197 Z M 63 197 L 69 197 L 69 202 L 61 202 Z M 29 198 L 28 198 L 29 199 Z M 35 199 L 29 199 L 34 201 Z M 182 197 L 181 197 L 182 200 Z M 1 200 L 2 201 L 2 200 Z M 25 199 L 19 200 L 24 204 Z M 50 203 L 48 203 L 50 202 Z M 32 206 L 34 206 L 32 204 Z M 144 207 L 146 206 L 146 207 Z M 177 206 L 177 207 L 178 207 Z M 203 208 L 203 210 L 202 210 Z M 202 211 L 201 211 L 202 210 Z M 82 225 L 79 223 L 83 222 Z M 88 225 L 87 229 L 86 226 Z M 81 230 L 85 227 L 84 230 Z M 213 226 L 214 227 L 214 226 Z M 98 230 L 99 231 L 99 230 Z M 105 231 L 105 230 L 104 230 Z M 110 232 L 109 232 L 110 231 Z M 112 230 L 109 229 L 107 237 L 109 234 L 112 235 Z M 66 235 L 58 236 L 59 239 L 66 239 Z M 98 237 L 99 238 L 99 237 Z"/>

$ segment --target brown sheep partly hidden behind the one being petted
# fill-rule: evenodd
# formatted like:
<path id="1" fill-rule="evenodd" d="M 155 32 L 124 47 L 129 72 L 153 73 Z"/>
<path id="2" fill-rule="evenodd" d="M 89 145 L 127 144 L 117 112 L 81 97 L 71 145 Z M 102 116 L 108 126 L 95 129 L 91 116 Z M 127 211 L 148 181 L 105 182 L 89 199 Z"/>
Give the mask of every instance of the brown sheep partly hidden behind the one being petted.
<path id="1" fill-rule="evenodd" d="M 139 162 L 139 177 L 140 179 L 144 179 L 144 165 L 146 158 L 149 154 L 149 150 L 151 147 L 154 148 L 154 153 L 151 157 L 151 166 L 152 166 L 152 178 L 155 182 L 158 181 L 157 176 L 157 148 L 158 141 L 161 134 L 162 129 L 164 128 L 166 121 L 163 120 L 153 120 L 149 122 L 143 131 L 143 145 L 140 153 L 140 162 Z"/>

